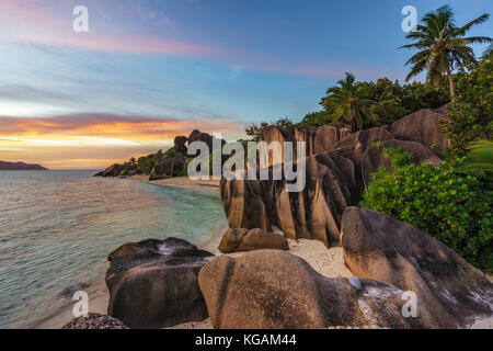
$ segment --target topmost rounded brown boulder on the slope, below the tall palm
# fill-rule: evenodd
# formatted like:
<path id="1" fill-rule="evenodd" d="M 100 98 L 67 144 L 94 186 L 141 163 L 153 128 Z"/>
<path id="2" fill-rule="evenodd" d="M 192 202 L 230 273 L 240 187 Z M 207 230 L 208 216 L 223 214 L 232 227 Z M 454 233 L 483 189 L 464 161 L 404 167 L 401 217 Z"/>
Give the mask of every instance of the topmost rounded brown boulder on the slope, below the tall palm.
<path id="1" fill-rule="evenodd" d="M 397 139 L 419 141 L 442 156 L 450 140 L 444 135 L 440 121 L 448 121 L 444 109 L 424 109 L 394 122 L 390 133 Z"/>

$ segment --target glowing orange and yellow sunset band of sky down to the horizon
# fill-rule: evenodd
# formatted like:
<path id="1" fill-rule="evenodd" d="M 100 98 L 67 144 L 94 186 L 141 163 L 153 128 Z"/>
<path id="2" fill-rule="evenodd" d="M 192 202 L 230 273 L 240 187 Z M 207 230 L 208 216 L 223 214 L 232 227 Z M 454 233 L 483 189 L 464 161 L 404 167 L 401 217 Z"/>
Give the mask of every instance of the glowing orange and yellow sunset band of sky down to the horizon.
<path id="1" fill-rule="evenodd" d="M 53 118 L 0 117 L 0 159 L 42 163 L 53 169 L 95 169 L 133 156 L 168 149 L 175 136 L 193 129 L 243 136 L 243 125 L 84 114 Z"/>

